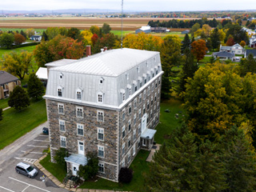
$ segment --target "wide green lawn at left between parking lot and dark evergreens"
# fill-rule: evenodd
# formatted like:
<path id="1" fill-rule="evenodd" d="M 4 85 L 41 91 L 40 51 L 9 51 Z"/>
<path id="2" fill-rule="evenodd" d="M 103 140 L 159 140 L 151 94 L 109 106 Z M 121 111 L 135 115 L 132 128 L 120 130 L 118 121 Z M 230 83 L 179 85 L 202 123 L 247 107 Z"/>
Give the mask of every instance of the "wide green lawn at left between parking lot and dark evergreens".
<path id="1" fill-rule="evenodd" d="M 44 99 L 40 102 L 31 102 L 30 106 L 21 111 L 13 108 L 3 111 L 3 119 L 0 122 L 0 150 L 46 120 Z"/>

